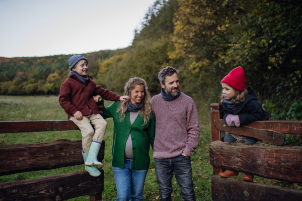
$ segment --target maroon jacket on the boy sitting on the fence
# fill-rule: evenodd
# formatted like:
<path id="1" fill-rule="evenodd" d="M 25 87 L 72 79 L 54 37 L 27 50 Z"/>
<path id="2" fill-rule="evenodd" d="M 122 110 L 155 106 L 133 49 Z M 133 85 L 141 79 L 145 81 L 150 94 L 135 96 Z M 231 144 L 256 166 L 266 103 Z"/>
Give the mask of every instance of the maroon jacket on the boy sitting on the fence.
<path id="1" fill-rule="evenodd" d="M 89 78 L 92 78 L 88 75 Z M 93 99 L 94 95 L 101 95 L 105 100 L 118 101 L 121 96 L 110 90 L 102 88 L 96 82 L 89 79 L 84 84 L 76 76 L 69 74 L 61 85 L 59 103 L 68 117 L 72 117 L 77 111 L 83 116 L 90 115 L 89 108 L 94 114 L 100 114 L 97 103 Z"/>

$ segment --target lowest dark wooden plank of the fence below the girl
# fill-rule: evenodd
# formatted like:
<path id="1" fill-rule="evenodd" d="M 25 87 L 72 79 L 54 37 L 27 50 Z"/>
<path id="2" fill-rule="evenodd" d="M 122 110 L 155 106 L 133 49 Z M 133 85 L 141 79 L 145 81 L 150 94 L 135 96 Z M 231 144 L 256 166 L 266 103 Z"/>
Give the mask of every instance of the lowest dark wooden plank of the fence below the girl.
<path id="1" fill-rule="evenodd" d="M 212 177 L 212 200 L 299 201 L 302 200 L 302 190 L 215 175 Z"/>

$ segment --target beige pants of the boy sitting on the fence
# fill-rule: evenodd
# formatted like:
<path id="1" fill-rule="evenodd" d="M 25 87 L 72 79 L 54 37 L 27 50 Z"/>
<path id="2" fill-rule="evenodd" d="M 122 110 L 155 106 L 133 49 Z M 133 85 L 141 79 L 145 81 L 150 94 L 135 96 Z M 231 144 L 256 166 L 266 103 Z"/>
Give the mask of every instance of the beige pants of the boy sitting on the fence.
<path id="1" fill-rule="evenodd" d="M 70 117 L 69 120 L 74 122 L 82 132 L 82 146 L 85 153 L 89 152 L 92 141 L 103 141 L 107 122 L 100 114 L 83 116 L 83 120 L 77 120 L 74 117 Z"/>

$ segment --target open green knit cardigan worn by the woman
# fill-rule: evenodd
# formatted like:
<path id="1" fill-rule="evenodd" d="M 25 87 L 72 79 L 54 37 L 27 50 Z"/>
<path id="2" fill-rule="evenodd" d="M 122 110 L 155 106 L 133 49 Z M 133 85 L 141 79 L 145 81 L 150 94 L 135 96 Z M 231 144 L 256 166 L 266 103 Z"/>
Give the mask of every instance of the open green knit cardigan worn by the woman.
<path id="1" fill-rule="evenodd" d="M 126 117 L 123 122 L 120 121 L 117 109 L 120 102 L 114 102 L 104 110 L 104 119 L 113 118 L 113 142 L 112 142 L 112 166 L 124 167 L 124 151 L 129 132 L 132 140 L 133 162 L 132 170 L 148 169 L 150 165 L 149 150 L 150 145 L 153 149 L 155 138 L 155 120 L 150 114 L 149 121 L 143 125 L 143 119 L 139 115 L 133 122 L 130 123 L 130 112 L 126 112 Z"/>

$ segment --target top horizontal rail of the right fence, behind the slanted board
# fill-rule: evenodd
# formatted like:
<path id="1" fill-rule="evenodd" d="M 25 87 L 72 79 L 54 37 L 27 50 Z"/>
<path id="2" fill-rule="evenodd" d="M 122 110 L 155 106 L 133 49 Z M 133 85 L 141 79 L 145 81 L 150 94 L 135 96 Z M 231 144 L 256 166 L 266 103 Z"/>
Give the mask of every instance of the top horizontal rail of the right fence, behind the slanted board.
<path id="1" fill-rule="evenodd" d="M 286 134 L 302 135 L 302 121 L 259 121 L 246 124 L 256 129 L 267 129 Z"/>

